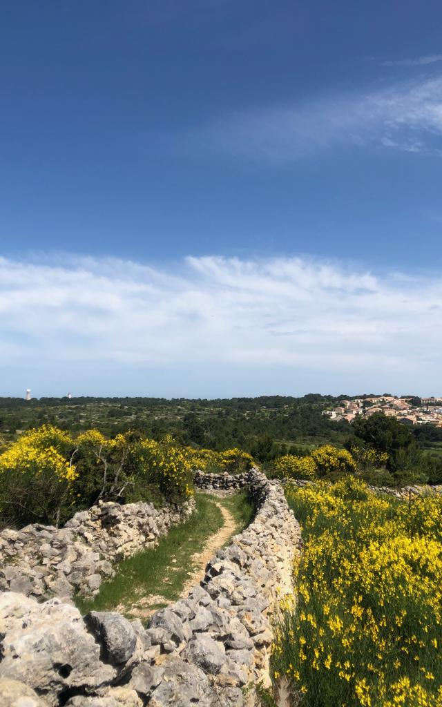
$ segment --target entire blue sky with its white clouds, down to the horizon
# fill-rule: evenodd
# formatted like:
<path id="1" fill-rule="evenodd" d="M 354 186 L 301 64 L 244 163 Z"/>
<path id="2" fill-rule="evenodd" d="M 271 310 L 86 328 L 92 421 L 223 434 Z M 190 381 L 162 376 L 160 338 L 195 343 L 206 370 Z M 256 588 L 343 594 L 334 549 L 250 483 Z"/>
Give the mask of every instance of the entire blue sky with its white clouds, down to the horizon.
<path id="1" fill-rule="evenodd" d="M 440 395 L 441 21 L 5 7 L 0 395 Z"/>

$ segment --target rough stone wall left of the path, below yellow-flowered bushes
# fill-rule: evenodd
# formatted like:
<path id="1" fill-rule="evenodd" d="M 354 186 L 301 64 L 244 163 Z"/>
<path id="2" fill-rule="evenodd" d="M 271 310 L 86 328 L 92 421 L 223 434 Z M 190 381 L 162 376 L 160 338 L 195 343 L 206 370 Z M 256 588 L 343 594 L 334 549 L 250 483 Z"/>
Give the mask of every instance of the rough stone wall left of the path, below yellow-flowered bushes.
<path id="1" fill-rule="evenodd" d="M 0 591 L 43 600 L 90 597 L 112 563 L 155 547 L 171 525 L 192 513 L 194 501 L 156 509 L 152 503 L 101 503 L 76 513 L 63 528 L 35 523 L 0 532 Z"/>

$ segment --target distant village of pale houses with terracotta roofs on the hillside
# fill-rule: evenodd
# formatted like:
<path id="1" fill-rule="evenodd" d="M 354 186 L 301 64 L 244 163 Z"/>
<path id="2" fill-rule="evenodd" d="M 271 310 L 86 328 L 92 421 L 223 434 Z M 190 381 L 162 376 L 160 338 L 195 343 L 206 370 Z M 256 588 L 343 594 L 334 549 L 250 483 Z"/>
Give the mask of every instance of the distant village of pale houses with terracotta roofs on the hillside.
<path id="1" fill-rule="evenodd" d="M 425 425 L 430 423 L 442 427 L 442 397 L 397 397 L 380 395 L 352 400 L 341 400 L 337 407 L 325 410 L 322 414 L 330 420 L 353 422 L 356 417 L 369 417 L 382 412 L 395 417 L 406 425 Z"/>

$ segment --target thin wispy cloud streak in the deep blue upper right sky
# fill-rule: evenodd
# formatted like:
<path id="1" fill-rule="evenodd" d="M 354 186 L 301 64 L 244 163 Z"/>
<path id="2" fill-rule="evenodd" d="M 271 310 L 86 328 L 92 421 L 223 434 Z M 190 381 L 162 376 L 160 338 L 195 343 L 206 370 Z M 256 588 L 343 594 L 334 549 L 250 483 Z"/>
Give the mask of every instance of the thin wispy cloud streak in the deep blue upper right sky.
<path id="1" fill-rule="evenodd" d="M 441 155 L 442 76 L 237 112 L 187 137 L 191 151 L 269 163 L 291 163 L 337 147 L 368 146 Z"/>

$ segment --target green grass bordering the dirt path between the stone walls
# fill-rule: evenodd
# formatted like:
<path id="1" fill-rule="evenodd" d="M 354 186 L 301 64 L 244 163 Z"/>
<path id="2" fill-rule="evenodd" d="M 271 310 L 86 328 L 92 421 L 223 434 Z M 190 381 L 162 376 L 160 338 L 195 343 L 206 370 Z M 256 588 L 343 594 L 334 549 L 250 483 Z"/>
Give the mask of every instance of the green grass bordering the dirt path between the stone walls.
<path id="1" fill-rule="evenodd" d="M 117 566 L 115 576 L 102 583 L 100 592 L 93 599 L 75 598 L 82 614 L 118 608 L 129 617 L 140 615 L 142 618 L 143 612 L 147 615 L 151 609 L 176 601 L 194 571 L 192 555 L 202 551 L 209 537 L 223 525 L 221 510 L 214 501 L 231 511 L 237 532 L 243 530 L 252 518 L 252 506 L 245 492 L 226 498 L 197 493 L 195 498 L 197 508 L 191 518 L 171 528 L 155 549 L 141 551 L 123 560 Z"/>

